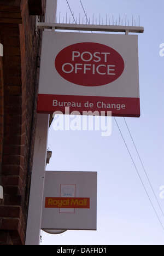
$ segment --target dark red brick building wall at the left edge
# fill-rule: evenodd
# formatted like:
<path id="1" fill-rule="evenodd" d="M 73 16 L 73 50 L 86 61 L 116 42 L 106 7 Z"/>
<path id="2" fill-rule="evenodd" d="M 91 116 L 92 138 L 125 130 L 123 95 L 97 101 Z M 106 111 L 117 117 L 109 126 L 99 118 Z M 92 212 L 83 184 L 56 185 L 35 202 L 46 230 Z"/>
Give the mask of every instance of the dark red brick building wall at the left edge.
<path id="1" fill-rule="evenodd" d="M 0 245 L 25 244 L 45 2 L 0 2 Z"/>

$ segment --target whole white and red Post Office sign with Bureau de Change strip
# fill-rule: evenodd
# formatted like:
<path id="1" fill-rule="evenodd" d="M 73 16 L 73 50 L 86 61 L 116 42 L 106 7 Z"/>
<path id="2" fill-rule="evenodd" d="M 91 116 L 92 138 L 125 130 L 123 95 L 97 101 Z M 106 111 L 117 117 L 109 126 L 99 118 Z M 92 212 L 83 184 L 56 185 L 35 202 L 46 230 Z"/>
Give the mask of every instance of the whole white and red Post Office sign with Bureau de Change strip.
<path id="1" fill-rule="evenodd" d="M 43 33 L 38 113 L 139 117 L 138 37 Z"/>

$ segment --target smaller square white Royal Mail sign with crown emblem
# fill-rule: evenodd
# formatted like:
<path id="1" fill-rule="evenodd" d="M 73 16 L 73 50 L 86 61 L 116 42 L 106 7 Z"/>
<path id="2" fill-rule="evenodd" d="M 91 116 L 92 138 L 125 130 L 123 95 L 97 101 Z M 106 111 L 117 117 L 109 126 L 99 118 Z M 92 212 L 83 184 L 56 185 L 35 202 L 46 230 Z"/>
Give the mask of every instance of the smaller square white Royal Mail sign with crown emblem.
<path id="1" fill-rule="evenodd" d="M 97 172 L 46 171 L 42 229 L 96 230 Z"/>

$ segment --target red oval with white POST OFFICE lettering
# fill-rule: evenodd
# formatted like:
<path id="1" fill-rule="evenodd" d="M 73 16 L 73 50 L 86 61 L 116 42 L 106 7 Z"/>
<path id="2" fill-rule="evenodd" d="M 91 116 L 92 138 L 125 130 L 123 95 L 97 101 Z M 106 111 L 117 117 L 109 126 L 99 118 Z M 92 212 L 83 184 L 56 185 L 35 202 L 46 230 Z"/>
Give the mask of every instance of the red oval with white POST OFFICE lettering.
<path id="1" fill-rule="evenodd" d="M 77 43 L 58 53 L 55 67 L 61 77 L 71 83 L 101 86 L 118 79 L 125 65 L 121 55 L 107 45 Z"/>

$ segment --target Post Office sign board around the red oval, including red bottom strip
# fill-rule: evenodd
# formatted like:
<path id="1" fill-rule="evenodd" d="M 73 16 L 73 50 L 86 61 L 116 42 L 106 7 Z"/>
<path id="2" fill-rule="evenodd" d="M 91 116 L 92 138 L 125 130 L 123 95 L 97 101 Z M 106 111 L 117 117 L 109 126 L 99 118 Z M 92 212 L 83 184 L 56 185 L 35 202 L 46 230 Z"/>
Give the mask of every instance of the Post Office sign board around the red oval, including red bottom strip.
<path id="1" fill-rule="evenodd" d="M 73 84 L 61 77 L 54 64 L 56 56 L 67 46 L 83 42 L 104 44 L 117 51 L 125 62 L 120 77 L 110 84 L 92 87 Z M 63 106 L 58 102 L 63 102 Z M 70 102 L 80 102 L 81 107 L 78 104 L 72 107 Z M 91 108 L 86 107 L 86 102 Z M 70 107 L 70 112 L 76 110 L 81 114 L 98 110 L 99 113 L 112 111 L 113 116 L 139 117 L 138 36 L 44 31 L 38 113 L 61 111 L 64 114 L 65 107 Z"/>

